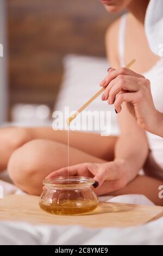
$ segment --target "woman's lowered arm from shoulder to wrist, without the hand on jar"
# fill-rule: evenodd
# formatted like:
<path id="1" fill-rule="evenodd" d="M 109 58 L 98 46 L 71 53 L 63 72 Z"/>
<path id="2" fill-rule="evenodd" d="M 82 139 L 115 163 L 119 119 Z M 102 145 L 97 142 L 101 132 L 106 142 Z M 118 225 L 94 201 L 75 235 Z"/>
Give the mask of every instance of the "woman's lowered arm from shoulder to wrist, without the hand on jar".
<path id="1" fill-rule="evenodd" d="M 106 32 L 106 52 L 113 68 L 120 68 L 117 45 L 119 25 L 120 21 L 115 21 Z M 115 147 L 115 161 L 124 160 L 124 166 L 128 170 L 127 182 L 129 182 L 134 179 L 146 161 L 148 142 L 145 131 L 137 125 L 126 103 L 123 103 L 122 111 L 118 114 L 118 121 L 121 135 Z"/>

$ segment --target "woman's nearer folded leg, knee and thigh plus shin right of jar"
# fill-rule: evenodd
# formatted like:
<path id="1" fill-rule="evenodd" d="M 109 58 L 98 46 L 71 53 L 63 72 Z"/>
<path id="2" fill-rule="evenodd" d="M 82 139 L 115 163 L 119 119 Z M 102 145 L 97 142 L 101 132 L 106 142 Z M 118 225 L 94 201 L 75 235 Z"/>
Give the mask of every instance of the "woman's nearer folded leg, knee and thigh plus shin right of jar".
<path id="1" fill-rule="evenodd" d="M 75 148 L 70 148 L 70 165 L 83 162 L 102 163 L 105 160 L 84 153 Z M 15 184 L 22 190 L 39 195 L 42 191 L 42 180 L 49 173 L 61 167 L 67 166 L 67 145 L 36 139 L 24 144 L 14 151 L 9 160 L 9 174 Z M 144 194 L 157 205 L 163 205 L 163 199 L 159 199 L 159 186 L 163 181 L 149 176 L 137 176 L 121 190 L 110 192 L 109 181 L 105 181 L 102 187 L 96 189 L 98 195 L 110 194 Z"/>

